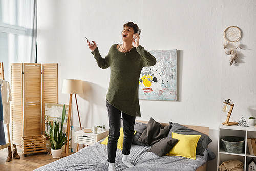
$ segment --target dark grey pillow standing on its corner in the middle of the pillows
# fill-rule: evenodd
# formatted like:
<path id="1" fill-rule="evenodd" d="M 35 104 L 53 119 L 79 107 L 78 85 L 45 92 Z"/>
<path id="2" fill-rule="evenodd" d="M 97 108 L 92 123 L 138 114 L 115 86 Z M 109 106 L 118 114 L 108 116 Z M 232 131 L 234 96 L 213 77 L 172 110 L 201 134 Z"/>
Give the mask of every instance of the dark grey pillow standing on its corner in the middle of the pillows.
<path id="1" fill-rule="evenodd" d="M 170 127 L 172 127 L 172 125 L 168 125 L 163 128 L 160 123 L 156 122 L 153 118 L 150 118 L 146 125 L 146 129 L 139 138 L 139 142 L 152 146 L 162 138 L 166 137 L 169 133 Z"/>

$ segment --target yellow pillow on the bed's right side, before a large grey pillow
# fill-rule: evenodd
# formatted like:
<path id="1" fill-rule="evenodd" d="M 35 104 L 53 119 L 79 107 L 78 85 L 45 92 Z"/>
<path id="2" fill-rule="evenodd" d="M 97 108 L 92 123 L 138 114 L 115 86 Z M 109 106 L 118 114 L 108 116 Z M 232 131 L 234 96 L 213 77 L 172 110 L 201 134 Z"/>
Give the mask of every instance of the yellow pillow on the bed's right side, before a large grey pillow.
<path id="1" fill-rule="evenodd" d="M 182 156 L 196 159 L 197 142 L 201 135 L 182 135 L 172 132 L 172 138 L 178 139 L 177 144 L 167 153 L 167 156 Z"/>

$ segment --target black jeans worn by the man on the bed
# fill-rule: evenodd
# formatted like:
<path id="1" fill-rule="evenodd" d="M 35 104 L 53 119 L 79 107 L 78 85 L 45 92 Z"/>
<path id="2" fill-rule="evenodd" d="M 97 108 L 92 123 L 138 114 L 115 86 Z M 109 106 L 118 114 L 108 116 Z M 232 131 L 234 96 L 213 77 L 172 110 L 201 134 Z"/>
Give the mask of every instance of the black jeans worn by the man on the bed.
<path id="1" fill-rule="evenodd" d="M 108 162 L 115 163 L 116 160 L 116 150 L 117 150 L 117 140 L 120 136 L 120 120 L 121 111 L 108 102 L 106 102 L 106 107 L 109 114 L 109 138 L 108 138 Z M 135 116 L 131 116 L 122 112 L 123 117 L 123 151 L 122 154 L 129 155 L 131 145 L 133 142 L 134 135 L 134 124 Z"/>

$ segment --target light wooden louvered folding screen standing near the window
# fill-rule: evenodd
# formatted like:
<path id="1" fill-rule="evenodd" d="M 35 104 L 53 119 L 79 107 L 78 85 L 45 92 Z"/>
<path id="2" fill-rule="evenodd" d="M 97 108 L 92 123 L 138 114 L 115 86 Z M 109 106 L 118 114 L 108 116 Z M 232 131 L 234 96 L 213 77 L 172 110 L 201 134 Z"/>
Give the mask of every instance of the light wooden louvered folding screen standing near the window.
<path id="1" fill-rule="evenodd" d="M 42 101 L 50 101 L 58 103 L 58 82 L 51 82 L 48 87 L 42 88 L 47 84 L 48 79 L 42 77 L 57 78 L 57 64 L 55 72 L 47 72 L 48 64 L 42 67 L 38 63 L 13 63 L 11 64 L 11 79 L 12 79 L 12 139 L 13 143 L 20 144 L 22 136 L 41 135 L 42 125 L 44 125 L 44 108 Z M 44 71 L 45 68 L 46 71 Z M 53 67 L 50 67 L 52 70 Z M 44 71 L 44 74 L 42 72 Z M 44 76 L 42 76 L 44 75 Z M 46 81 L 46 82 L 44 82 Z M 44 93 L 42 93 L 42 90 Z M 56 90 L 53 93 L 53 90 Z M 52 94 L 51 97 L 48 95 Z M 45 98 L 46 96 L 46 98 Z M 57 96 L 57 98 L 55 97 Z"/>

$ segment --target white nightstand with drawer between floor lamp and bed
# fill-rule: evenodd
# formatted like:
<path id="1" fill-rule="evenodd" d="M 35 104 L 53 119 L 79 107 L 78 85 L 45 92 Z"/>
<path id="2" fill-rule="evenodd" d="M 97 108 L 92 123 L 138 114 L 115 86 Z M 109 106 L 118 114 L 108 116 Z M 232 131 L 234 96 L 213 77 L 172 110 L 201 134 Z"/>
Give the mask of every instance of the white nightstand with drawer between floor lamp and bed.
<path id="1" fill-rule="evenodd" d="M 84 133 L 83 129 L 75 132 L 75 143 L 84 145 L 93 145 L 94 143 L 106 138 L 109 135 L 109 131 L 97 131 L 94 133 Z"/>

